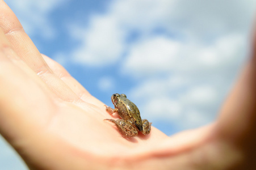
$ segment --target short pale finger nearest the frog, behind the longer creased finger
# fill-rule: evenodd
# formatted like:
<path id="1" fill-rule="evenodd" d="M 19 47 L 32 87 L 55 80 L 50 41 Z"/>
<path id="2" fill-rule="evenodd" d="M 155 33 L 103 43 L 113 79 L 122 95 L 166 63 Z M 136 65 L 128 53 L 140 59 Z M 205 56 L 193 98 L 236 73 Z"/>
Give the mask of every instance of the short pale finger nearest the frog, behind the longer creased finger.
<path id="1" fill-rule="evenodd" d="M 50 69 L 83 101 L 102 107 L 104 104 L 92 96 L 76 79 L 71 76 L 58 62 L 42 54 Z"/>

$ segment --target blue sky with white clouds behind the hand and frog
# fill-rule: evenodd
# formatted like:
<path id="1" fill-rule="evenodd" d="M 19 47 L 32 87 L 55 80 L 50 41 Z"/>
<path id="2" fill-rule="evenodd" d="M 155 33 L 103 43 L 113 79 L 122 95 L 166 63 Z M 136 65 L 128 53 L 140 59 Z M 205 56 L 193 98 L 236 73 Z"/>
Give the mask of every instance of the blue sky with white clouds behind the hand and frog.
<path id="1" fill-rule="evenodd" d="M 256 0 L 6 0 L 41 53 L 167 135 L 215 120 L 247 59 Z M 0 140 L 0 167 L 26 169 Z"/>

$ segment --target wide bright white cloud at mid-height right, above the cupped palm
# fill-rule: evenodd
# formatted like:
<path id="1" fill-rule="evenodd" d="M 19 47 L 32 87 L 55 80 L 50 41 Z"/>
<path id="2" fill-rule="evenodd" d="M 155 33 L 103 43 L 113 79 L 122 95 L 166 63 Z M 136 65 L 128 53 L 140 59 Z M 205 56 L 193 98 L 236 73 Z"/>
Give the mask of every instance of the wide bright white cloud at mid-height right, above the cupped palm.
<path id="1" fill-rule="evenodd" d="M 131 46 L 121 68 L 123 73 L 136 78 L 160 73 L 208 76 L 214 72 L 234 71 L 242 65 L 246 44 L 242 33 L 216 37 L 211 44 L 151 37 Z"/>

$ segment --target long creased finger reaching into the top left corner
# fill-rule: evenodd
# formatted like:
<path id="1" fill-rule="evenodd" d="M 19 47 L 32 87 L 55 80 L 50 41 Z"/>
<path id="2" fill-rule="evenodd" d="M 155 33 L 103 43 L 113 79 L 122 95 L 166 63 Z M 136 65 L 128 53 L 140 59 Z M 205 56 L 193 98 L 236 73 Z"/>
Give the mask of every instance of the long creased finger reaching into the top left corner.
<path id="1" fill-rule="evenodd" d="M 27 65 L 44 80 L 54 94 L 65 101 L 80 101 L 79 97 L 48 67 L 40 52 L 24 32 L 15 14 L 0 0 L 0 27 L 9 40 L 12 49 Z M 12 57 L 12 56 L 10 56 Z"/>

